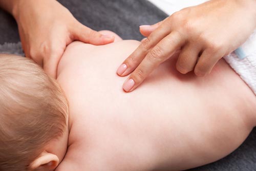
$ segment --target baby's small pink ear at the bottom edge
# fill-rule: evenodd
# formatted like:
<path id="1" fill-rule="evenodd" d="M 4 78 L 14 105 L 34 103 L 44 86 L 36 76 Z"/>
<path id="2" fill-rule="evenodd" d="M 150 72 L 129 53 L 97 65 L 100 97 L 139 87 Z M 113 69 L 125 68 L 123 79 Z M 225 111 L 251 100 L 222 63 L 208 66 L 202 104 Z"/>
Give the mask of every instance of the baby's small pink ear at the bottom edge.
<path id="1" fill-rule="evenodd" d="M 49 171 L 54 170 L 59 164 L 59 158 L 46 151 L 42 152 L 31 164 L 31 170 Z"/>

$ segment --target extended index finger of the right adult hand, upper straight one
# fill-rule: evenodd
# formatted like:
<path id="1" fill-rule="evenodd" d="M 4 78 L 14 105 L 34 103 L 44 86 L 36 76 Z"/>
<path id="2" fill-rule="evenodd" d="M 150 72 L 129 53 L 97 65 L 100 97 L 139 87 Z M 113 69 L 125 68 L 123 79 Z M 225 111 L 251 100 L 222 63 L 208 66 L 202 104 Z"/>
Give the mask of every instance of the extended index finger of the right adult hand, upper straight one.
<path id="1" fill-rule="evenodd" d="M 117 70 L 117 74 L 119 76 L 125 76 L 134 71 L 147 53 L 168 34 L 170 34 L 168 26 L 165 26 L 164 24 L 159 26 L 150 36 L 141 42 L 140 46 L 128 58 L 123 61 L 122 65 Z"/>

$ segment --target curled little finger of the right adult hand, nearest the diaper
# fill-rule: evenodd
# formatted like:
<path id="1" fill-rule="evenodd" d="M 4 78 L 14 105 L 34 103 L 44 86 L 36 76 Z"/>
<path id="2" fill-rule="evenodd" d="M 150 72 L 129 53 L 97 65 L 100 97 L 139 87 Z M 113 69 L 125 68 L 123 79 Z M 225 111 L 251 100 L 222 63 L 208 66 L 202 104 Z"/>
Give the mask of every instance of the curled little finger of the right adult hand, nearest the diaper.
<path id="1" fill-rule="evenodd" d="M 205 76 L 210 73 L 216 63 L 223 57 L 221 51 L 212 51 L 211 49 L 205 49 L 200 56 L 197 65 L 195 67 L 195 74 L 197 76 Z"/>

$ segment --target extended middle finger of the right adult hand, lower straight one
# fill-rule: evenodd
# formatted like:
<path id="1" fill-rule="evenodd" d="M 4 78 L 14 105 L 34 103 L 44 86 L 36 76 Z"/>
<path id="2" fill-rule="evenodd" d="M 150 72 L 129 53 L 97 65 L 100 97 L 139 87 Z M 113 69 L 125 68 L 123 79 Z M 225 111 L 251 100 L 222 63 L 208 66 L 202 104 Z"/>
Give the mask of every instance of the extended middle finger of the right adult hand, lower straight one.
<path id="1" fill-rule="evenodd" d="M 183 43 L 184 39 L 179 32 L 172 32 L 162 39 L 159 44 L 146 55 L 136 70 L 124 82 L 123 90 L 125 92 L 131 92 L 136 89 L 160 63 L 172 56 Z"/>

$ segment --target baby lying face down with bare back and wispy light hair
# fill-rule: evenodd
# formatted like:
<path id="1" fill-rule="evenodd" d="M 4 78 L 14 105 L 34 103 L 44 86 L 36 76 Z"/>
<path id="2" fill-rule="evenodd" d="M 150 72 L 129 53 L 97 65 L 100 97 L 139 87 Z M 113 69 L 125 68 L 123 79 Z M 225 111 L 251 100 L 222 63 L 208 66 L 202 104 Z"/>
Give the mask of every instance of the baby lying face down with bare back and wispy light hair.
<path id="1" fill-rule="evenodd" d="M 57 81 L 69 113 L 39 67 L 1 56 L 1 74 L 12 75 L 0 77 L 0 170 L 184 170 L 245 140 L 256 124 L 256 98 L 224 60 L 201 78 L 177 72 L 173 56 L 126 94 L 116 67 L 140 42 L 115 36 L 110 45 L 67 48 Z"/>

